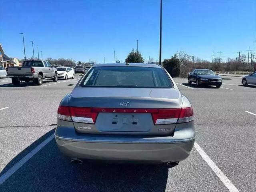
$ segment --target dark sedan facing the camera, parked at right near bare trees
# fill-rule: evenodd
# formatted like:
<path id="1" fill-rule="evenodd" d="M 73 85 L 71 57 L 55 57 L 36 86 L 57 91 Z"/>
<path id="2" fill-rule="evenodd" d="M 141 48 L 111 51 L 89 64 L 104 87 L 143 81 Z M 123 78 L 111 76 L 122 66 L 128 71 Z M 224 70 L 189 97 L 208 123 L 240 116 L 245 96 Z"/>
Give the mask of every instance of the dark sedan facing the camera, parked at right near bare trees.
<path id="1" fill-rule="evenodd" d="M 216 88 L 220 88 L 222 85 L 222 78 L 209 69 L 194 69 L 188 74 L 188 83 L 196 83 L 196 86 L 200 85 L 215 85 Z"/>

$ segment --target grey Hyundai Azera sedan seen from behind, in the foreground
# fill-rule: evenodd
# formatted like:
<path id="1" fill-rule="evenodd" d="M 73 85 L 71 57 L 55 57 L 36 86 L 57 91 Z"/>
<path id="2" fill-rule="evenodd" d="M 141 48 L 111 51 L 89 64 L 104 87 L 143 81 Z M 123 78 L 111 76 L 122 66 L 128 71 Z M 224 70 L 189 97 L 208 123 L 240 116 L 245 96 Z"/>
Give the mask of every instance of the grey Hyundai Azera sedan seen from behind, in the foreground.
<path id="1" fill-rule="evenodd" d="M 55 139 L 72 162 L 177 165 L 194 145 L 193 110 L 162 66 L 96 64 L 60 102 Z"/>

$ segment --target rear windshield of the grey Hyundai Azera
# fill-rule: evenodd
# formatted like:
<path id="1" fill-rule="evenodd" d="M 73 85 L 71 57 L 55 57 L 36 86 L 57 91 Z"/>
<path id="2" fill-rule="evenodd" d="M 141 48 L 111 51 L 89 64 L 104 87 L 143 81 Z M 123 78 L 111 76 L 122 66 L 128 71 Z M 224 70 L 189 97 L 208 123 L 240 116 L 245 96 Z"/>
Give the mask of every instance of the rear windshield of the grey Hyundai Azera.
<path id="1" fill-rule="evenodd" d="M 172 88 L 173 84 L 162 68 L 154 67 L 94 67 L 80 86 Z"/>

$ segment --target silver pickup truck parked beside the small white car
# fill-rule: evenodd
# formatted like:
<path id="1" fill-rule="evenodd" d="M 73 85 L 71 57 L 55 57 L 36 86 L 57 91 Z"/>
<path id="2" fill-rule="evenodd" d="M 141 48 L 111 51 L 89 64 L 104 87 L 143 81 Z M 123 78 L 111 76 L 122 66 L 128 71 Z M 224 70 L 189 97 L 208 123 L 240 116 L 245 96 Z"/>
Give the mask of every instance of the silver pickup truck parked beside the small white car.
<path id="1" fill-rule="evenodd" d="M 24 60 L 22 67 L 8 67 L 7 77 L 12 78 L 12 84 L 19 85 L 20 81 L 34 81 L 36 85 L 42 85 L 44 78 L 53 78 L 58 81 L 56 68 L 50 62 L 44 60 Z"/>

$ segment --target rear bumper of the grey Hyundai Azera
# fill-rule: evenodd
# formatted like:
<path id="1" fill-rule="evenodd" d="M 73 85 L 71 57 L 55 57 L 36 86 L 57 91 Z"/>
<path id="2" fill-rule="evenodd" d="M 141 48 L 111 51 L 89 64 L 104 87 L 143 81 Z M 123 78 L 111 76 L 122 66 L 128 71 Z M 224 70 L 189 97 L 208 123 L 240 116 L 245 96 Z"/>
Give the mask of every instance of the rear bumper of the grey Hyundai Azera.
<path id="1" fill-rule="evenodd" d="M 194 122 L 180 125 L 174 136 L 106 136 L 79 134 L 74 127 L 58 127 L 55 131 L 59 150 L 70 158 L 114 160 L 124 162 L 165 163 L 182 161 L 194 146 Z M 192 127 L 191 127 L 192 126 Z"/>

